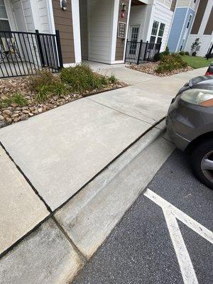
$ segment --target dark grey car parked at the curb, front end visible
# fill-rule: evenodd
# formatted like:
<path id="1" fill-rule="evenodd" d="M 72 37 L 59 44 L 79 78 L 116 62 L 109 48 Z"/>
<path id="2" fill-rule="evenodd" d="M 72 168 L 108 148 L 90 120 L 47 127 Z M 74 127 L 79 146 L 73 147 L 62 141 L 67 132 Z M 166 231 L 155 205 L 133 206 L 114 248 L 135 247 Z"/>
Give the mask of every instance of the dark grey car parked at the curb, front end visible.
<path id="1" fill-rule="evenodd" d="M 175 145 L 190 153 L 197 178 L 213 189 L 213 76 L 195 77 L 180 89 L 166 118 Z"/>

